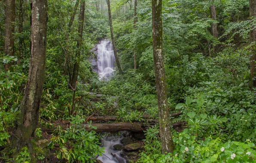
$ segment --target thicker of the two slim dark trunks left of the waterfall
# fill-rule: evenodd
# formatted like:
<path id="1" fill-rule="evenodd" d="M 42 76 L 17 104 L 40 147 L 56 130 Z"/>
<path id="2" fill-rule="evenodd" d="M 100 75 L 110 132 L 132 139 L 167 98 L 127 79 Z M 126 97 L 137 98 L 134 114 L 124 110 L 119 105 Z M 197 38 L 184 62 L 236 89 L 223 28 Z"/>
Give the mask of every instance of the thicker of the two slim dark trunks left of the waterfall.
<path id="1" fill-rule="evenodd" d="M 77 82 L 77 77 L 78 77 L 78 72 L 79 72 L 79 57 L 80 53 L 82 51 L 82 31 L 83 31 L 83 20 L 84 20 L 84 15 L 85 15 L 85 0 L 81 0 L 80 4 L 80 13 L 79 13 L 79 22 L 78 22 L 78 39 L 77 39 L 77 52 L 76 52 L 76 62 L 74 64 L 74 69 L 73 69 L 73 76 L 72 76 L 72 87 L 76 87 L 76 82 Z"/>

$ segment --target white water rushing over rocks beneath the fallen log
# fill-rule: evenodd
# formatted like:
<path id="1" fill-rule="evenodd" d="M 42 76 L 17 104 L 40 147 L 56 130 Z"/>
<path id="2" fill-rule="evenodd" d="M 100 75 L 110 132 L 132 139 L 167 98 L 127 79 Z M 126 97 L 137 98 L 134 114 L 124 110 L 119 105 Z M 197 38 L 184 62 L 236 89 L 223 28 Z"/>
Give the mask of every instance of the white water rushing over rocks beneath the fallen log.
<path id="1" fill-rule="evenodd" d="M 117 151 L 115 148 L 113 148 L 114 145 L 121 144 L 121 139 L 122 137 L 120 136 L 105 137 L 101 143 L 103 148 L 105 148 L 105 152 L 103 154 L 105 154 L 107 157 L 102 154 L 102 156 L 99 156 L 97 159 L 101 160 L 103 163 L 126 163 L 126 160 L 120 156 L 121 151 Z"/>

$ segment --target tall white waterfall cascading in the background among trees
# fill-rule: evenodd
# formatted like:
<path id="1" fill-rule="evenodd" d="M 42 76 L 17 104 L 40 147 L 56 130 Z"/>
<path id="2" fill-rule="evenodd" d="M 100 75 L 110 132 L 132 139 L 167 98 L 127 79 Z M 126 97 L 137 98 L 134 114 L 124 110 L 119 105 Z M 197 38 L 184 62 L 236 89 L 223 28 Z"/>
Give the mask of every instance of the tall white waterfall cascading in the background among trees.
<path id="1" fill-rule="evenodd" d="M 112 76 L 115 55 L 113 51 L 113 45 L 110 40 L 102 40 L 100 44 L 97 45 L 98 48 L 98 74 L 100 79 L 109 79 Z"/>

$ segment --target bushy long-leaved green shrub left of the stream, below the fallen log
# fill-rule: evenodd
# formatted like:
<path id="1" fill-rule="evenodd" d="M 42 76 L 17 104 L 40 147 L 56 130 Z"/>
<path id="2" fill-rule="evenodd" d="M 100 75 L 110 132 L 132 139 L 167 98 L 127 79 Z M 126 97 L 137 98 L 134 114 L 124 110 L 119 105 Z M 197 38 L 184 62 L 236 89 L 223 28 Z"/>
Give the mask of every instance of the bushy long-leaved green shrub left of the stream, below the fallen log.
<path id="1" fill-rule="evenodd" d="M 70 118 L 72 124 L 68 129 L 59 128 L 55 136 L 52 137 L 50 148 L 55 148 L 56 157 L 65 159 L 69 162 L 93 163 L 97 155 L 103 151 L 99 147 L 99 139 L 93 130 L 81 128 L 81 123 L 85 121 L 79 116 Z M 93 129 L 91 123 L 88 123 L 88 129 Z"/>

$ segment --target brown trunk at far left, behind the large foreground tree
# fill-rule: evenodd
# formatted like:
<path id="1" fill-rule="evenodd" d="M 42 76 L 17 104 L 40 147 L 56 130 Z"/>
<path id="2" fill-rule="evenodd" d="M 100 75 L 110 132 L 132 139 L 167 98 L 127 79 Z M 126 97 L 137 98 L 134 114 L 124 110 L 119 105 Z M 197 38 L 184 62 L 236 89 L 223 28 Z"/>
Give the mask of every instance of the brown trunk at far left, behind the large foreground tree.
<path id="1" fill-rule="evenodd" d="M 15 0 L 6 0 L 5 10 L 5 45 L 4 52 L 8 56 L 14 56 L 14 25 L 15 25 Z M 9 69 L 13 62 L 6 63 L 5 69 Z"/>

